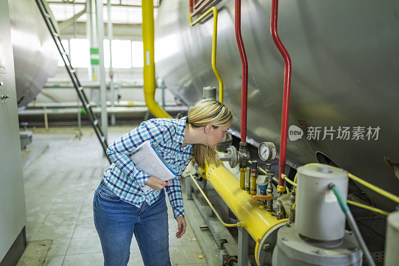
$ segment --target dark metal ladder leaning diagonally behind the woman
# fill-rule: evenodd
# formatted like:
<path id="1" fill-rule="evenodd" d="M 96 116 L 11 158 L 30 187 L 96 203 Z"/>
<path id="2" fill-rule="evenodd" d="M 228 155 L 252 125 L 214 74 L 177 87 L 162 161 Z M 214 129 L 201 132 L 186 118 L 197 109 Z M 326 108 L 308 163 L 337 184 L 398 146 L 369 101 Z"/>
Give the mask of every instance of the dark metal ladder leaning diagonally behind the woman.
<path id="1" fill-rule="evenodd" d="M 79 96 L 80 101 L 82 102 L 83 108 L 86 111 L 87 116 L 89 117 L 90 124 L 93 127 L 94 132 L 96 133 L 97 138 L 101 143 L 101 146 L 103 147 L 104 154 L 106 154 L 108 147 L 107 139 L 103 131 L 101 130 L 99 121 L 96 115 L 94 114 L 93 109 L 91 108 L 90 102 L 87 99 L 86 94 L 83 91 L 83 87 L 80 84 L 80 81 L 76 75 L 76 71 L 72 67 L 71 60 L 68 54 L 66 53 L 64 46 L 61 43 L 61 37 L 59 32 L 57 32 L 57 29 L 55 27 L 55 22 L 53 21 L 53 18 L 47 9 L 48 8 L 47 5 L 44 3 L 44 0 L 36 0 L 36 3 L 37 6 L 39 7 L 41 15 L 43 16 L 44 22 L 46 23 L 47 28 L 50 31 L 51 37 L 53 38 L 54 43 L 57 46 L 57 49 L 62 57 L 62 60 L 64 61 L 66 71 L 68 72 L 69 77 L 71 78 L 73 86 L 75 87 L 75 90 Z M 108 157 L 107 159 L 110 163 L 112 163 Z"/>

